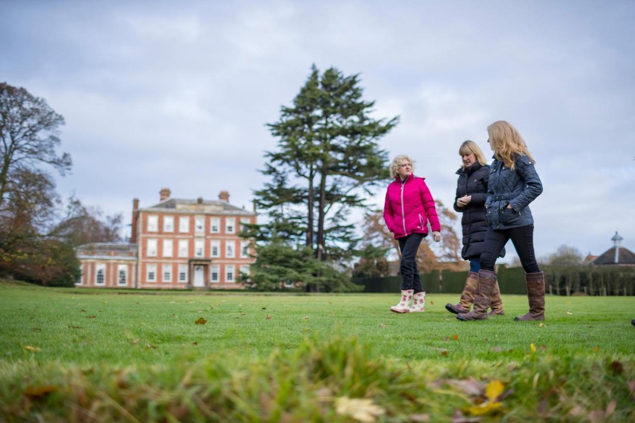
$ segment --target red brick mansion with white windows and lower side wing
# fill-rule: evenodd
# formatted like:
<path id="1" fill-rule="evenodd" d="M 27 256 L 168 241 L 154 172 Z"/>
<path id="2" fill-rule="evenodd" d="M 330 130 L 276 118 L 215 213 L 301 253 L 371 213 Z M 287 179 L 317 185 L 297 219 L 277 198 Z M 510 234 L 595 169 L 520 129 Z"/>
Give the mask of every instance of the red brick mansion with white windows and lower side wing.
<path id="1" fill-rule="evenodd" d="M 161 200 L 139 208 L 132 202 L 130 243 L 93 243 L 76 248 L 83 287 L 139 289 L 241 289 L 253 247 L 238 234 L 256 214 L 219 200 L 180 200 L 163 188 Z"/>

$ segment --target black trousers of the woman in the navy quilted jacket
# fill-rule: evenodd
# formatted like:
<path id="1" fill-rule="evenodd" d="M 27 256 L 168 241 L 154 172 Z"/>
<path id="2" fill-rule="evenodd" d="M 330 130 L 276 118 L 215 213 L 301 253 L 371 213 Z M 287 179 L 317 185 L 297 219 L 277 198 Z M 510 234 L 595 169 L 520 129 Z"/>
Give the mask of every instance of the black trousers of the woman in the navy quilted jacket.
<path id="1" fill-rule="evenodd" d="M 487 228 L 483 252 L 481 253 L 481 269 L 494 271 L 498 254 L 510 239 L 525 272 L 539 272 L 540 268 L 538 268 L 536 256 L 533 254 L 533 226 L 531 225 L 501 230 Z"/>

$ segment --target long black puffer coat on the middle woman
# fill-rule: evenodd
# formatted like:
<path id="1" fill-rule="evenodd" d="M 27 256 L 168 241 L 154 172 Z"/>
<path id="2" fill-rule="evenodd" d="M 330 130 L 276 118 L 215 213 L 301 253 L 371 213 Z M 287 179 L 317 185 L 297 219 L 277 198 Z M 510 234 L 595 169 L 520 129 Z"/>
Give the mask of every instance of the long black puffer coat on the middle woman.
<path id="1" fill-rule="evenodd" d="M 483 252 L 483 242 L 487 232 L 485 221 L 485 200 L 487 199 L 487 187 L 490 178 L 490 166 L 479 162 L 467 169 L 460 168 L 457 171 L 457 195 L 454 198 L 454 209 L 463 213 L 461 225 L 463 226 L 463 249 L 461 257 L 464 260 L 478 259 Z M 464 195 L 471 195 L 472 201 L 466 207 L 458 207 L 457 200 Z M 505 249 L 500 257 L 505 256 Z"/>

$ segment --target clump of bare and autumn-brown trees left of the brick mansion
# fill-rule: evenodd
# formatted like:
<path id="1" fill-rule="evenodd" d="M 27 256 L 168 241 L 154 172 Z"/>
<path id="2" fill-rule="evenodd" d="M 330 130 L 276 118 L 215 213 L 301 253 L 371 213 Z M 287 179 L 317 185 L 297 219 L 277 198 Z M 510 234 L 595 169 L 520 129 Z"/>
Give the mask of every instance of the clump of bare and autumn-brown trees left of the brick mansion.
<path id="1" fill-rule="evenodd" d="M 69 198 L 65 210 L 50 171 L 70 172 L 58 154 L 64 117 L 43 98 L 0 83 L 0 277 L 72 286 L 73 247 L 119 240 L 123 216 L 106 216 Z"/>

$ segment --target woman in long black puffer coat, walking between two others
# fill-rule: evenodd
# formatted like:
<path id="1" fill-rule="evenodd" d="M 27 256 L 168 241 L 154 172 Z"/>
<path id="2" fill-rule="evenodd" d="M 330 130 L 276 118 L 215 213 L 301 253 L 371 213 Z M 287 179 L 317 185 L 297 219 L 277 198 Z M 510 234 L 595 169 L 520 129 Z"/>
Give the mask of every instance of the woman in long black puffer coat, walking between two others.
<path id="1" fill-rule="evenodd" d="M 485 164 L 483 152 L 474 141 L 465 141 L 458 149 L 463 166 L 458 169 L 457 195 L 454 200 L 455 211 L 462 213 L 463 249 L 461 257 L 470 262 L 470 271 L 465 280 L 465 287 L 458 304 L 446 304 L 445 308 L 451 313 L 468 313 L 474 303 L 479 262 L 483 252 L 483 242 L 487 233 L 485 221 L 485 200 L 487 198 L 490 166 Z M 501 257 L 505 255 L 503 249 Z M 491 299 L 490 315 L 503 315 L 503 302 L 500 298 L 498 282 Z"/>

